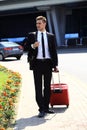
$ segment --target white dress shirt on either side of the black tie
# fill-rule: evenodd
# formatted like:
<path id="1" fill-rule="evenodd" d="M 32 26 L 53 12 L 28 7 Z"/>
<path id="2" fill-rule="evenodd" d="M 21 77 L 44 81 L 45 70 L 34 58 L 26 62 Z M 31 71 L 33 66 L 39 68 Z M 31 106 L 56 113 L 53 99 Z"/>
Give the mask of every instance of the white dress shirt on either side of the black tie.
<path id="1" fill-rule="evenodd" d="M 41 35 L 41 33 L 42 32 L 40 32 L 40 31 L 38 31 L 38 33 L 37 33 L 37 41 L 39 42 L 37 59 L 44 59 L 43 52 L 42 52 L 42 42 L 41 42 L 42 35 Z M 50 59 L 50 53 L 49 53 L 49 48 L 48 48 L 48 39 L 47 39 L 46 31 L 43 32 L 43 37 L 44 37 L 44 47 L 45 47 L 45 59 Z"/>

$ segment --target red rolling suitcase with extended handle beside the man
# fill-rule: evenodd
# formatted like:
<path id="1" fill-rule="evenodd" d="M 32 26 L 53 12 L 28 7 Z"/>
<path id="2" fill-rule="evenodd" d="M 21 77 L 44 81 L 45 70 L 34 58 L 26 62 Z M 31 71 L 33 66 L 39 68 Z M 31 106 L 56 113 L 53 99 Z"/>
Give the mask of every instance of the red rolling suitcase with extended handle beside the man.
<path id="1" fill-rule="evenodd" d="M 68 85 L 65 83 L 60 83 L 60 76 L 58 72 L 59 83 L 51 84 L 51 97 L 50 105 L 66 105 L 69 106 L 69 94 L 68 94 Z"/>

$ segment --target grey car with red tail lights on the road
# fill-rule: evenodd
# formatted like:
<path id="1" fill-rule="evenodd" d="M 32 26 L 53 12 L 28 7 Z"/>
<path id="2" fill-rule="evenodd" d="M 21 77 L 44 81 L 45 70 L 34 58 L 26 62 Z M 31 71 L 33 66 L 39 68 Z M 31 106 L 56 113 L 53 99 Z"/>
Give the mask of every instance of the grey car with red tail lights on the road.
<path id="1" fill-rule="evenodd" d="M 2 41 L 0 42 L 0 61 L 7 57 L 16 57 L 20 60 L 23 55 L 23 47 L 15 42 Z"/>

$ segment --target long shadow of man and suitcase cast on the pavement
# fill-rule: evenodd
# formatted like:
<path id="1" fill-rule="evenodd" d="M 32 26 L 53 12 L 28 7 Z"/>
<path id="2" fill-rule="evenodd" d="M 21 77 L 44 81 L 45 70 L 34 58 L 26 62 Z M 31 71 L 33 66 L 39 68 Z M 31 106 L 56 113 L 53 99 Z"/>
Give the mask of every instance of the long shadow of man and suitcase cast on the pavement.
<path id="1" fill-rule="evenodd" d="M 55 113 L 47 114 L 44 118 L 38 118 L 37 116 L 32 116 L 29 118 L 21 118 L 17 120 L 14 130 L 24 130 L 26 127 L 29 127 L 29 126 L 34 127 L 34 126 L 38 126 L 43 123 L 46 123 L 46 121 L 54 118 L 56 114 L 64 113 L 67 110 L 67 107 L 56 107 L 52 109 L 54 110 Z M 20 126 L 18 126 L 17 124 L 20 124 Z"/>

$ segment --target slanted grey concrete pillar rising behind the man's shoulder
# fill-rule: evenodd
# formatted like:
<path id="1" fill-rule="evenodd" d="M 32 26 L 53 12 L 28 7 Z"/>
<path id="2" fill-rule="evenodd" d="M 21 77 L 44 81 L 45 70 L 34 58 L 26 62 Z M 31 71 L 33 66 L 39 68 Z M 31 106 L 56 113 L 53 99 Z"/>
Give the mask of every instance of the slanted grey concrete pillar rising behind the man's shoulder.
<path id="1" fill-rule="evenodd" d="M 58 46 L 65 44 L 65 13 L 65 9 L 61 7 L 53 7 L 51 10 L 52 21 Z"/>

